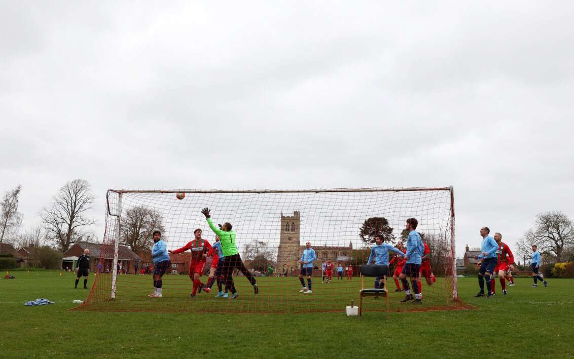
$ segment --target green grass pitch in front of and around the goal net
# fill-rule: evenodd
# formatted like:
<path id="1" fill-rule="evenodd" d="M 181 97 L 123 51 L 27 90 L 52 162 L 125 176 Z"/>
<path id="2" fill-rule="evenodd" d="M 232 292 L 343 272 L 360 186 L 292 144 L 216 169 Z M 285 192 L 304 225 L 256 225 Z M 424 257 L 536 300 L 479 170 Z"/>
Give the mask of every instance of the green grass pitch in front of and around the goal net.
<path id="1" fill-rule="evenodd" d="M 475 279 L 461 278 L 460 298 L 478 310 L 389 313 L 387 320 L 385 313 L 373 312 L 346 317 L 343 309 L 303 314 L 71 311 L 72 300 L 88 292 L 73 289 L 72 273 L 10 274 L 16 279 L 0 279 L 2 358 L 574 357 L 571 279 L 532 288 L 531 279 L 518 278 L 510 295 L 486 299 L 473 298 Z M 296 279 L 289 280 L 297 287 Z M 315 284 L 316 290 L 324 285 Z M 24 306 L 36 298 L 56 303 Z"/>

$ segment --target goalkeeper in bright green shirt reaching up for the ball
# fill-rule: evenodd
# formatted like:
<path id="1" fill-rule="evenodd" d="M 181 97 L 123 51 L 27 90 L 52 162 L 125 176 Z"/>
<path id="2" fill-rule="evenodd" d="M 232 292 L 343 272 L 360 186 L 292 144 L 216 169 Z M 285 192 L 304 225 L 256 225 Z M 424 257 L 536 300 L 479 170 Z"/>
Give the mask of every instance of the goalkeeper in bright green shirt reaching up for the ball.
<path id="1" fill-rule="evenodd" d="M 219 242 L 221 243 L 223 256 L 225 257 L 222 270 L 223 283 L 225 283 L 226 288 L 231 290 L 231 296 L 229 298 L 235 299 L 239 296 L 235 290 L 235 284 L 233 283 L 232 274 L 235 268 L 245 275 L 245 278 L 247 278 L 253 286 L 255 294 L 257 294 L 259 292 L 257 282 L 255 282 L 253 274 L 245 268 L 245 265 L 241 260 L 241 256 L 239 256 L 239 251 L 235 246 L 235 232 L 231 231 L 231 223 L 226 222 L 223 225 L 220 224 L 219 228 L 217 228 L 211 221 L 209 208 L 204 208 L 201 210 L 201 213 L 203 213 L 205 219 L 207 219 L 207 224 L 210 225 L 211 230 L 219 236 Z"/>

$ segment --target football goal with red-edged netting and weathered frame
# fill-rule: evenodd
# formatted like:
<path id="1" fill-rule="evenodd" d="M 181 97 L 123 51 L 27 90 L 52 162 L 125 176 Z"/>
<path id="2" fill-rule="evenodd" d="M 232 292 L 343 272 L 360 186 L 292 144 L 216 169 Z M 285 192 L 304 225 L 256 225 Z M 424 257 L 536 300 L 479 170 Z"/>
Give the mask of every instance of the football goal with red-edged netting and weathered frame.
<path id="1" fill-rule="evenodd" d="M 184 193 L 183 199 L 176 197 Z M 180 196 L 181 197 L 181 196 Z M 183 248 L 201 229 L 201 239 L 215 243 L 201 209 L 210 208 L 215 225 L 230 223 L 246 273 L 234 271 L 237 299 L 216 298 L 218 282 L 210 283 L 210 268 L 221 262 L 205 259 L 200 282 L 211 292 L 193 294 L 192 251 L 170 254 L 171 267 L 162 278 L 162 298 L 154 291 L 151 255 L 153 231 L 160 231 L 167 249 Z M 77 309 L 109 311 L 212 311 L 221 313 L 298 313 L 344 311 L 358 301 L 358 267 L 366 264 L 374 236 L 406 246 L 405 223 L 417 218 L 417 231 L 430 248 L 430 274 L 421 276 L 423 305 L 414 310 L 466 309 L 456 286 L 455 211 L 452 186 L 443 188 L 334 188 L 307 190 L 108 190 L 106 228 L 99 263 L 102 273 L 86 301 Z M 301 279 L 299 260 L 306 243 L 316 260 Z M 191 248 L 191 247 L 190 247 Z M 390 252 L 392 258 L 394 252 Z M 200 261 L 201 262 L 201 261 Z M 215 263 L 214 263 L 215 262 Z M 137 271 L 135 263 L 138 263 Z M 218 264 L 219 263 L 219 264 Z M 323 263 L 333 265 L 330 280 Z M 201 264 L 200 264 L 201 266 Z M 343 268 L 343 276 L 338 268 Z M 119 268 L 119 270 L 118 270 Z M 352 268 L 352 275 L 347 275 Z M 363 301 L 363 311 L 410 311 L 400 303 L 404 292 L 389 267 L 388 301 Z M 190 276 L 191 272 L 191 276 Z M 211 271 L 215 272 L 215 269 Z M 305 270 L 304 273 L 307 273 Z M 355 279 L 355 280 L 354 280 Z M 324 283 L 322 283 L 324 282 Z M 374 278 L 364 282 L 373 287 Z M 382 281 L 381 281 L 382 282 Z M 257 283 L 255 294 L 253 283 Z M 410 283 L 410 282 L 409 282 Z M 302 287 L 311 293 L 301 291 Z M 229 291 L 232 288 L 227 288 Z M 115 299 L 110 301 L 110 299 Z M 386 303 L 389 303 L 388 305 Z"/>

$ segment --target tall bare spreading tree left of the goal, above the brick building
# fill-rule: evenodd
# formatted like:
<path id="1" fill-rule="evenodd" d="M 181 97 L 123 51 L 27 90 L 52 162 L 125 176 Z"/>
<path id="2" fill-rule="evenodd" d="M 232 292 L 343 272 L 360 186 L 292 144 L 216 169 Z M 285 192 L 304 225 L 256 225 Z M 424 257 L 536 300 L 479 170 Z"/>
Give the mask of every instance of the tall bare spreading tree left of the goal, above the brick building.
<path id="1" fill-rule="evenodd" d="M 57 243 L 60 251 L 67 251 L 69 245 L 82 236 L 84 227 L 95 224 L 93 218 L 87 217 L 94 200 L 90 184 L 85 179 L 74 179 L 60 188 L 49 207 L 42 209 L 48 237 Z"/>

